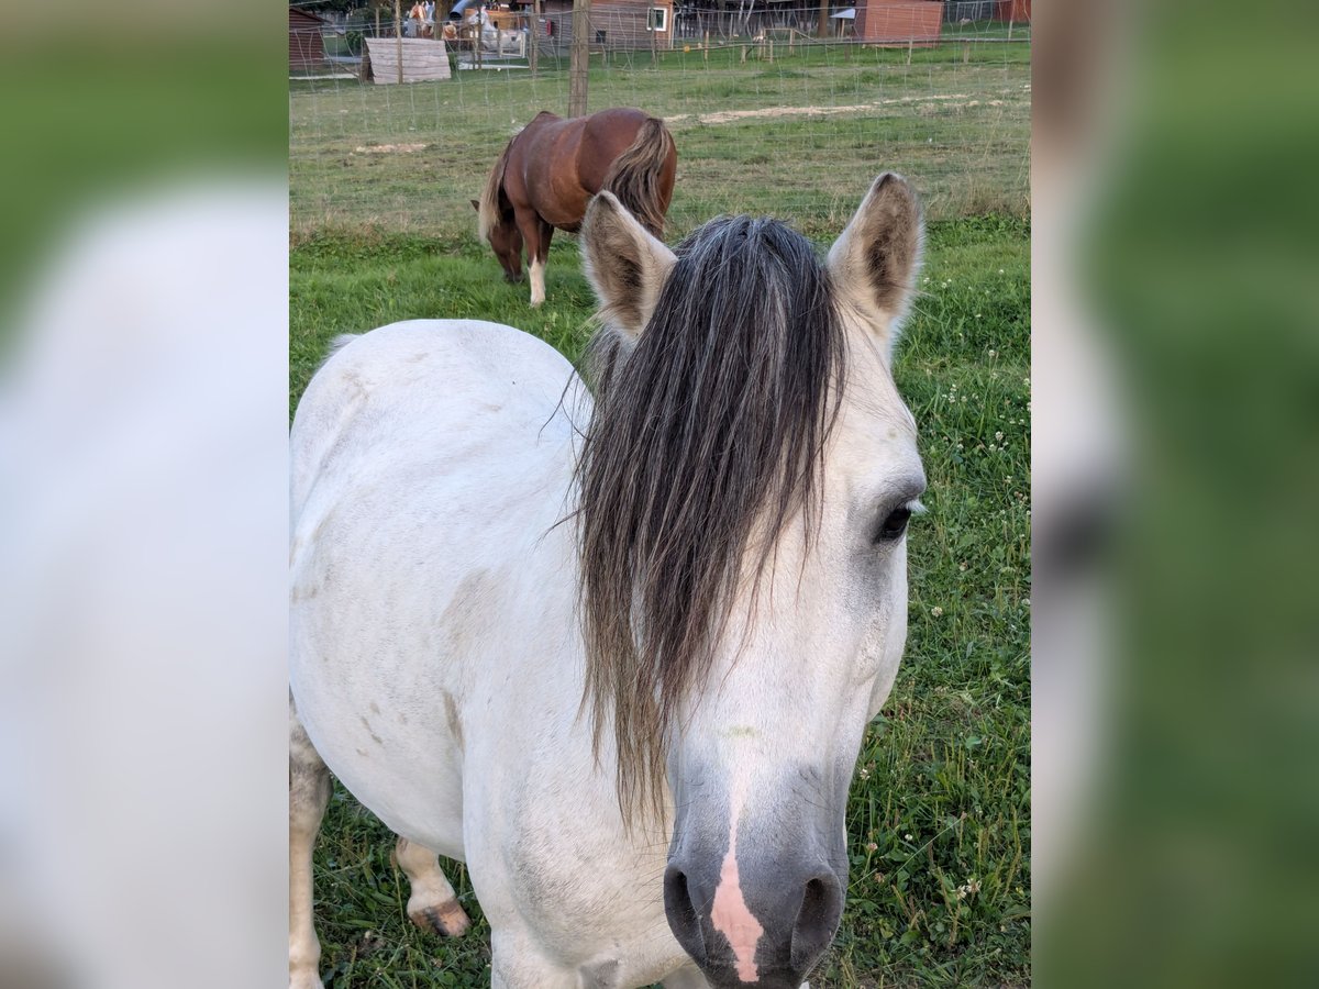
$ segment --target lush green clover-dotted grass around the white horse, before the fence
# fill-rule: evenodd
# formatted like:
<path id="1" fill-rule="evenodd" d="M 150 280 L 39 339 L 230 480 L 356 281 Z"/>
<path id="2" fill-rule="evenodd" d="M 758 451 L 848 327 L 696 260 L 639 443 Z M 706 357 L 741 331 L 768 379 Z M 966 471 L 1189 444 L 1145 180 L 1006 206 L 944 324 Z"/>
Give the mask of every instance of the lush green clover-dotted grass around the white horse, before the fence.
<path id="1" fill-rule="evenodd" d="M 864 185 L 852 191 L 859 199 Z M 911 527 L 902 671 L 867 734 L 848 808 L 843 928 L 813 986 L 1030 980 L 1029 245 L 1020 219 L 930 227 L 925 294 L 896 368 L 921 425 L 930 513 Z M 570 239 L 555 245 L 549 302 L 532 310 L 526 286 L 506 285 L 470 236 L 302 240 L 290 401 L 335 334 L 412 316 L 508 322 L 576 356 L 591 295 L 574 252 Z M 445 942 L 406 920 L 392 847 L 336 790 L 317 853 L 328 985 L 488 985 L 489 930 L 464 869 L 447 866 L 477 923 Z"/>

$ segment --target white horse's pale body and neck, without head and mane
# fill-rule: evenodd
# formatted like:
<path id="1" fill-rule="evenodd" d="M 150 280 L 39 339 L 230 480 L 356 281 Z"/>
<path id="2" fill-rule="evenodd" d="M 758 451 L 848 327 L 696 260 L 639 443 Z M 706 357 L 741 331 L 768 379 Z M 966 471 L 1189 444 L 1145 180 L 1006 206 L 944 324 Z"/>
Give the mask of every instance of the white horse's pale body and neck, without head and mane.
<path id="1" fill-rule="evenodd" d="M 575 530 L 555 524 L 591 398 L 570 381 L 549 344 L 477 320 L 377 330 L 317 375 L 293 433 L 290 676 L 343 783 L 472 862 L 504 957 L 575 985 L 634 931 L 615 977 L 637 985 L 686 956 L 666 833 L 623 833 L 612 764 L 578 723 Z"/>

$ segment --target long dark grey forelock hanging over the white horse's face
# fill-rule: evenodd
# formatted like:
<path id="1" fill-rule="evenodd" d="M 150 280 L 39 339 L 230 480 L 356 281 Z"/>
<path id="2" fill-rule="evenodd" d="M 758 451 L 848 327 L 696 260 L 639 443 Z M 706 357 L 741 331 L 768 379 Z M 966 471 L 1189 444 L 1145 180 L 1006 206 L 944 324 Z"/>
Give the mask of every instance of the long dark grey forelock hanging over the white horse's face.
<path id="1" fill-rule="evenodd" d="M 828 277 L 802 235 L 718 219 L 675 253 L 636 345 L 608 327 L 592 342 L 578 467 L 584 703 L 596 753 L 613 725 L 628 820 L 662 806 L 666 742 L 744 560 L 758 575 L 802 510 L 810 538 L 844 381 Z"/>

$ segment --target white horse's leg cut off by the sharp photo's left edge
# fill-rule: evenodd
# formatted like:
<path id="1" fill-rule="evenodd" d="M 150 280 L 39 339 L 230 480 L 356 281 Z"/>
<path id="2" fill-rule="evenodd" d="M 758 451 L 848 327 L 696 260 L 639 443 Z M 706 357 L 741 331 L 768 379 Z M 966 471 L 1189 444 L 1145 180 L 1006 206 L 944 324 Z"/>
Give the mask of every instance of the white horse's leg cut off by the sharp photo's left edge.
<path id="1" fill-rule="evenodd" d="M 311 918 L 311 851 L 330 803 L 330 770 L 289 698 L 289 989 L 322 989 Z"/>

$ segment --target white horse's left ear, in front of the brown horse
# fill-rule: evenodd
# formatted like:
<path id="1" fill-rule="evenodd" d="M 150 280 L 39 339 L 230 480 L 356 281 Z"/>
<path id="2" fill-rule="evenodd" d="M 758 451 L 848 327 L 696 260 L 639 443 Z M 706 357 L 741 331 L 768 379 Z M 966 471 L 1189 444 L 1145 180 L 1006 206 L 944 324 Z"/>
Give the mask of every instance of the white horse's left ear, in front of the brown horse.
<path id="1" fill-rule="evenodd" d="M 636 340 L 650 322 L 674 261 L 673 252 L 612 193 L 591 200 L 582 223 L 582 262 L 605 323 Z"/>

